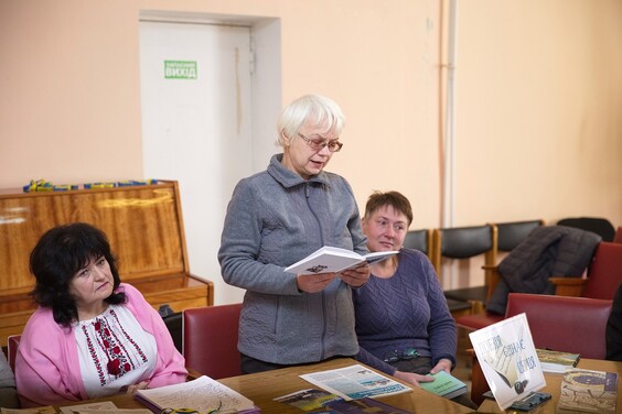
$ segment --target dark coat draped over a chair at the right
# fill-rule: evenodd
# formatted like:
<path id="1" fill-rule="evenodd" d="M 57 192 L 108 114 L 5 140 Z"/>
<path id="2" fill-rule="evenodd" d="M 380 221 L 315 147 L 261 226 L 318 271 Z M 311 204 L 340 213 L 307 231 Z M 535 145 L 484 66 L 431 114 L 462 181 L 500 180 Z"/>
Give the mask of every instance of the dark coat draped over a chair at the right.
<path id="1" fill-rule="evenodd" d="M 486 310 L 505 314 L 510 292 L 554 294 L 551 276 L 580 276 L 593 257 L 601 237 L 564 226 L 534 229 L 500 264 L 501 281 Z"/>

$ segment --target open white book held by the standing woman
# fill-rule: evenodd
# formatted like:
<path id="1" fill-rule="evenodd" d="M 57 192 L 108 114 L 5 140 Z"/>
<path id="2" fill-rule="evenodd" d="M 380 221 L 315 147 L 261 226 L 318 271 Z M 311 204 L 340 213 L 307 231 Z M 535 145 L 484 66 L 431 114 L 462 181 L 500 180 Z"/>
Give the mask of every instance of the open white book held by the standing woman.
<path id="1" fill-rule="evenodd" d="M 286 272 L 297 274 L 334 273 L 355 268 L 363 262 L 374 263 L 399 253 L 396 250 L 378 251 L 361 255 L 353 251 L 324 246 L 299 262 L 287 268 Z"/>

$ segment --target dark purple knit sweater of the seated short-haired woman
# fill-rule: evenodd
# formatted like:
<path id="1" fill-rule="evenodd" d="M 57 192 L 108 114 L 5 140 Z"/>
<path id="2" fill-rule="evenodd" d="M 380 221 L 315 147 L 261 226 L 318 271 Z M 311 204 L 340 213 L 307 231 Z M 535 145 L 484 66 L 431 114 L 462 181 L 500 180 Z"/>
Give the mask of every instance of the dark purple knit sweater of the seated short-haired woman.
<path id="1" fill-rule="evenodd" d="M 415 348 L 422 357 L 455 363 L 457 330 L 444 294 L 428 258 L 401 249 L 398 266 L 389 279 L 372 274 L 353 290 L 356 335 L 361 350 L 356 359 L 387 374 L 395 368 L 383 361 L 394 349 Z"/>

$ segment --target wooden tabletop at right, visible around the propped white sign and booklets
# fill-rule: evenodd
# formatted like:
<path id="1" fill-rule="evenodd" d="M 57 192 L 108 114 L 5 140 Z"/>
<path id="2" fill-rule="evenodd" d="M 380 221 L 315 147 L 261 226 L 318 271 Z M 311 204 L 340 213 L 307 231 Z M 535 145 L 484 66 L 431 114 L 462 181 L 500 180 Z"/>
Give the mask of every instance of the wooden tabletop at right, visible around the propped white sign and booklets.
<path id="1" fill-rule="evenodd" d="M 618 412 L 622 411 L 622 404 L 620 402 L 620 395 L 622 395 L 622 362 L 614 361 L 602 361 L 598 359 L 583 359 L 579 360 L 577 368 L 596 370 L 596 371 L 608 371 L 618 373 Z M 555 413 L 557 407 L 557 402 L 559 401 L 559 394 L 561 392 L 561 379 L 560 373 L 546 373 L 546 386 L 540 392 L 546 392 L 553 395 L 553 397 L 546 403 L 541 404 L 537 408 L 529 411 L 529 414 L 545 414 Z M 504 413 L 494 400 L 485 400 L 482 405 L 480 405 L 479 412 L 485 413 Z M 506 410 L 505 413 L 518 413 L 514 410 Z"/>

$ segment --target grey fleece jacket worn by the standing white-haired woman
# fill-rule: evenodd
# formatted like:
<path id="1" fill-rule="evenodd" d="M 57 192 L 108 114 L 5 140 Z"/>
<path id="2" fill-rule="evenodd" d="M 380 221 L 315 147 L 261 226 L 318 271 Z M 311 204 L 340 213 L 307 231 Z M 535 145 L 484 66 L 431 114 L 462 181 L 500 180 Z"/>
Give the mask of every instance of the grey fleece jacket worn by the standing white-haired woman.
<path id="1" fill-rule="evenodd" d="M 326 172 L 304 181 L 281 160 L 242 179 L 227 208 L 218 261 L 224 281 L 246 290 L 238 350 L 282 364 L 354 356 L 351 287 L 335 279 L 300 293 L 283 271 L 322 246 L 367 252 L 352 188 Z"/>

